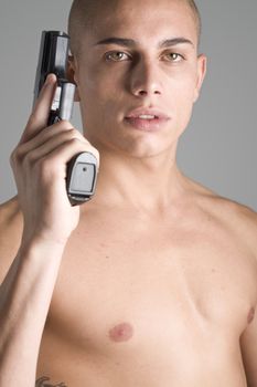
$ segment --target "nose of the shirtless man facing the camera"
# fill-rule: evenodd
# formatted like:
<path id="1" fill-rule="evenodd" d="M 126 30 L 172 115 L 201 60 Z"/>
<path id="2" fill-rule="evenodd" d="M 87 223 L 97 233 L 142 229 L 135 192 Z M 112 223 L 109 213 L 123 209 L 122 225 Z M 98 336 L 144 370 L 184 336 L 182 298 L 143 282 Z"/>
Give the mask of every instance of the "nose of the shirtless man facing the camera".
<path id="1" fill-rule="evenodd" d="M 150 61 L 140 60 L 131 69 L 130 92 L 142 97 L 162 94 L 160 69 Z"/>

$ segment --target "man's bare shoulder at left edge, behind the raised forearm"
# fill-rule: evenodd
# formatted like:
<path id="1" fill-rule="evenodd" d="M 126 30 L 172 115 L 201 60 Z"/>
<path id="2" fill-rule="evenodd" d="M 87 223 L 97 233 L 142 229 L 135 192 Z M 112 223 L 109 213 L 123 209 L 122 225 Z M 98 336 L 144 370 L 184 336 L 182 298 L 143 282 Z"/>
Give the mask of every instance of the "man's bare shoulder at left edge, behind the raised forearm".
<path id="1" fill-rule="evenodd" d="M 23 220 L 17 197 L 0 205 L 0 283 L 20 247 Z"/>

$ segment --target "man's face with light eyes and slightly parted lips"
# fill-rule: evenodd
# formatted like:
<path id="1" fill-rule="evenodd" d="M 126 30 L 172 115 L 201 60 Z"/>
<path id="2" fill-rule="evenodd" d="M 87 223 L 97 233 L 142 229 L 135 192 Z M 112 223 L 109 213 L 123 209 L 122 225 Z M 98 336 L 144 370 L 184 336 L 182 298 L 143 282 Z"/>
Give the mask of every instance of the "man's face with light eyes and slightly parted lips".
<path id="1" fill-rule="evenodd" d="M 99 150 L 149 157 L 176 146 L 205 72 L 191 12 L 182 0 L 108 0 L 97 7 L 94 29 L 81 38 L 75 81 L 85 135 Z M 126 41 L 103 43 L 109 38 Z M 169 119 L 133 126 L 126 117 L 140 107 Z"/>

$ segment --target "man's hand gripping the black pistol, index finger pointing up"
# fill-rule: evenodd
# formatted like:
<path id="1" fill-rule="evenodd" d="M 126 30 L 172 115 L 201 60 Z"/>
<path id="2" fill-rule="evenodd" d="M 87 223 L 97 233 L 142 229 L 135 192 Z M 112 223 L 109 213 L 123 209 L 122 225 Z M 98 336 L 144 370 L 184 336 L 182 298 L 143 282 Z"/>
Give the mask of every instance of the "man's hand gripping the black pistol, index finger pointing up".
<path id="1" fill-rule="evenodd" d="M 66 243 L 79 219 L 66 194 L 66 164 L 82 151 L 98 151 L 65 121 L 46 127 L 56 86 L 49 75 L 10 161 L 24 216 L 23 242 L 31 239 Z"/>

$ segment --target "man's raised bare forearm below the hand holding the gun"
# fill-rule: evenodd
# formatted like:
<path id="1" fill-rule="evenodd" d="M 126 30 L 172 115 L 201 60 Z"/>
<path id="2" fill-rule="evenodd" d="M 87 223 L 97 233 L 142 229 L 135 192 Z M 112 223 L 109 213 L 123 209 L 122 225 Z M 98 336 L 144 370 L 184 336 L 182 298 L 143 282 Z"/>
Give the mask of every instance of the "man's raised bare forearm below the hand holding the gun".
<path id="1" fill-rule="evenodd" d="M 21 248 L 0 286 L 0 387 L 32 387 L 64 245 Z"/>

